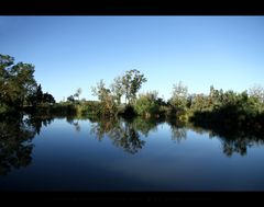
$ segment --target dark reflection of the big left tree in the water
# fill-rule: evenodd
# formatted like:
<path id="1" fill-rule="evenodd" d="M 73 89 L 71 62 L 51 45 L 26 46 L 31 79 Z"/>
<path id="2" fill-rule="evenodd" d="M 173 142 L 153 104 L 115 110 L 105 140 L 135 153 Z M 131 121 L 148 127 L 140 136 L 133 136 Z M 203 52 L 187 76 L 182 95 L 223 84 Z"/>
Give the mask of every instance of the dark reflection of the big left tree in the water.
<path id="1" fill-rule="evenodd" d="M 32 139 L 40 134 L 42 125 L 48 123 L 51 119 L 22 115 L 0 120 L 0 175 L 31 163 Z"/>

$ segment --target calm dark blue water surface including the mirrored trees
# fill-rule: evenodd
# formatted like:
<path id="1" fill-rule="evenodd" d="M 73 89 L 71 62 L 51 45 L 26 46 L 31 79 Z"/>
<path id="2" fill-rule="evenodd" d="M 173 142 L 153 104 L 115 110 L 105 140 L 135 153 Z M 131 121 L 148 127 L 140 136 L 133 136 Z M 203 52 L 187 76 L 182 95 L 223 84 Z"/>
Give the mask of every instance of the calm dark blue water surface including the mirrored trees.
<path id="1" fill-rule="evenodd" d="M 161 120 L 0 122 L 1 191 L 263 191 L 264 139 Z"/>

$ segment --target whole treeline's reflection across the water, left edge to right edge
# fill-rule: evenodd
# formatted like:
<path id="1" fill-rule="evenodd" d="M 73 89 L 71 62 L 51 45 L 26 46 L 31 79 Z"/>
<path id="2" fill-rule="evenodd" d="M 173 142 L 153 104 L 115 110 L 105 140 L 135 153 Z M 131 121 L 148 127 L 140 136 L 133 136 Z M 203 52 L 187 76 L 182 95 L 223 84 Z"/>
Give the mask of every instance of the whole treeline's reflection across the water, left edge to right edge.
<path id="1" fill-rule="evenodd" d="M 28 166 L 32 162 L 35 135 L 41 134 L 43 126 L 48 126 L 54 117 L 19 116 L 6 117 L 0 120 L 0 174 L 7 174 L 12 169 Z M 75 117 L 66 117 L 67 123 L 81 130 L 81 125 Z M 109 138 L 112 143 L 125 152 L 135 154 L 146 145 L 151 133 L 158 133 L 158 125 L 164 119 L 123 118 L 89 118 L 89 130 L 99 141 Z M 89 127 L 87 122 L 87 127 Z M 188 139 L 187 133 L 209 135 L 221 141 L 222 152 L 231 157 L 233 153 L 245 156 L 249 148 L 264 145 L 264 135 L 254 131 L 241 131 L 222 126 L 205 126 L 166 120 L 170 127 L 172 140 L 177 143 Z"/>

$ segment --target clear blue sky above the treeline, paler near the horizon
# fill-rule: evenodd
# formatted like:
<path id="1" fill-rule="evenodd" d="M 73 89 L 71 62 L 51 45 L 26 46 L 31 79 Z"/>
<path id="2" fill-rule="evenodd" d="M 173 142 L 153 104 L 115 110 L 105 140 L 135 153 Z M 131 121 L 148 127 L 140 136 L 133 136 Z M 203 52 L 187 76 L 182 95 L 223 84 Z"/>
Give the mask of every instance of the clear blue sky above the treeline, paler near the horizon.
<path id="1" fill-rule="evenodd" d="M 0 54 L 33 64 L 56 101 L 95 100 L 91 85 L 130 69 L 164 99 L 178 81 L 240 92 L 264 83 L 264 16 L 0 16 Z"/>

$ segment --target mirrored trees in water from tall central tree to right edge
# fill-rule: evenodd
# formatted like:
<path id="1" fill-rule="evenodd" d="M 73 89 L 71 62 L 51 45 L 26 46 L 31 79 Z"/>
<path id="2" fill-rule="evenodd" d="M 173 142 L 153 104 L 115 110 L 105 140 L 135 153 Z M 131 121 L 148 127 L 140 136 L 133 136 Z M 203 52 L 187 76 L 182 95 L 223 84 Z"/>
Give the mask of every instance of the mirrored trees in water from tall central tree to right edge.
<path id="1" fill-rule="evenodd" d="M 145 118 L 91 118 L 90 133 L 97 136 L 98 140 L 109 137 L 113 145 L 121 147 L 124 151 L 136 153 L 145 145 L 141 139 L 150 136 L 150 131 L 157 130 L 162 119 Z M 180 123 L 178 120 L 166 120 L 170 126 L 172 140 L 178 143 L 187 139 L 187 130 L 193 130 L 200 135 L 209 134 L 209 138 L 218 138 L 221 141 L 222 152 L 231 157 L 233 153 L 246 154 L 248 148 L 264 145 L 264 135 L 255 131 L 242 131 L 235 128 L 224 128 L 223 126 L 194 125 L 191 123 Z M 140 135 L 141 134 L 141 135 Z"/>

